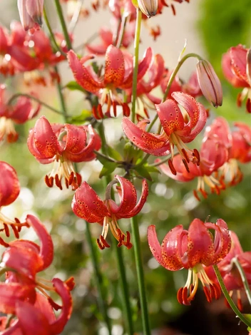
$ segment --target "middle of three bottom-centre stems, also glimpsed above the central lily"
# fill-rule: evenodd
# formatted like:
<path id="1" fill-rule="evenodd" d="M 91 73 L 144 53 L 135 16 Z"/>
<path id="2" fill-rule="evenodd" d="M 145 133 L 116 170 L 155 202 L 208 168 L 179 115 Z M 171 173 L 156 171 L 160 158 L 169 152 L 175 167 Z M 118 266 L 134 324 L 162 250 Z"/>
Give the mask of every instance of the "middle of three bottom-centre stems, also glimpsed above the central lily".
<path id="1" fill-rule="evenodd" d="M 101 137 L 101 151 L 104 155 L 108 155 L 108 150 L 106 146 L 106 135 L 105 135 L 105 130 L 103 127 L 103 121 L 99 123 L 98 125 L 98 133 Z M 111 175 L 107 175 L 105 179 L 105 186 L 111 182 Z M 112 191 L 112 190 L 111 190 Z M 113 192 L 111 192 L 111 197 L 113 197 Z M 117 258 L 117 263 L 118 263 L 118 271 L 119 271 L 119 280 L 121 282 L 121 288 L 122 288 L 122 294 L 123 294 L 123 310 L 126 314 L 126 324 L 127 324 L 127 330 L 129 335 L 133 335 L 133 316 L 132 316 L 132 311 L 130 308 L 130 295 L 129 295 L 129 289 L 128 289 L 128 282 L 126 279 L 126 267 L 125 263 L 123 260 L 123 250 L 121 248 L 118 248 L 117 246 L 115 247 L 116 249 L 116 258 Z"/>

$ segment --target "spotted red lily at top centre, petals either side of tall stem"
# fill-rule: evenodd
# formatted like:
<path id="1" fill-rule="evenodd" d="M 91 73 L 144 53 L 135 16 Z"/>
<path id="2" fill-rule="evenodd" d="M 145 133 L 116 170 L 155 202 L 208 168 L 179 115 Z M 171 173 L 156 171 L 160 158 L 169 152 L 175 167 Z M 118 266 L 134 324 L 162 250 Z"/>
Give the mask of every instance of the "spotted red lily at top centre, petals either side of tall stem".
<path id="1" fill-rule="evenodd" d="M 98 105 L 98 108 L 93 109 L 94 116 L 96 118 L 103 118 L 102 105 L 104 103 L 108 105 L 106 111 L 108 117 L 111 116 L 111 106 L 113 106 L 113 113 L 116 116 L 116 105 L 121 105 L 123 114 L 128 115 L 128 105 L 123 103 L 123 99 L 118 95 L 116 89 L 121 88 L 124 90 L 132 86 L 133 56 L 115 46 L 108 46 L 106 50 L 105 73 L 100 77 L 94 73 L 91 66 L 83 66 L 83 63 L 90 58 L 91 56 L 86 56 L 80 60 L 74 51 L 68 51 L 68 62 L 76 82 L 86 91 L 101 96 L 101 103 Z M 145 75 L 152 58 L 153 51 L 151 48 L 148 48 L 145 51 L 143 60 L 138 65 L 138 81 Z"/>

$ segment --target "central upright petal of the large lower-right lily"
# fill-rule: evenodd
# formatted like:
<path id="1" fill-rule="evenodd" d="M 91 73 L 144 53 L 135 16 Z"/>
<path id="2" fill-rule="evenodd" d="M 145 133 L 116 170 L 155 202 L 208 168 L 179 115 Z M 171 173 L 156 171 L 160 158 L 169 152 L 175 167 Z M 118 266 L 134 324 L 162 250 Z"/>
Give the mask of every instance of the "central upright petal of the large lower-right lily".
<path id="1" fill-rule="evenodd" d="M 195 219 L 188 229 L 188 266 L 204 264 L 209 267 L 215 261 L 215 247 L 212 242 L 212 234 L 205 224 Z"/>

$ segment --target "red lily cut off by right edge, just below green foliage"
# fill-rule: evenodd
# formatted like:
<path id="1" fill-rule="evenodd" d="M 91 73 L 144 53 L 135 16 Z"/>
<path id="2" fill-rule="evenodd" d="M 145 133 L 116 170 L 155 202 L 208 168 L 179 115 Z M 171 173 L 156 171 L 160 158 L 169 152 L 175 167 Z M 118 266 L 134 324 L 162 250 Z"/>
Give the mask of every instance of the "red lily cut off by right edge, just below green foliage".
<path id="1" fill-rule="evenodd" d="M 232 46 L 222 56 L 222 71 L 232 86 L 244 88 L 242 93 L 237 96 L 237 105 L 242 105 L 242 101 L 247 97 L 246 109 L 247 112 L 251 113 L 251 51 L 241 44 Z"/>

